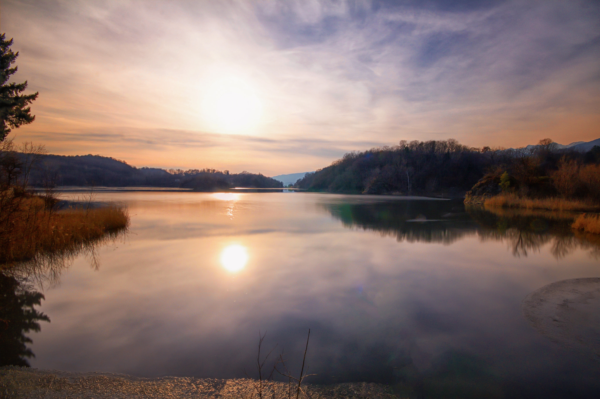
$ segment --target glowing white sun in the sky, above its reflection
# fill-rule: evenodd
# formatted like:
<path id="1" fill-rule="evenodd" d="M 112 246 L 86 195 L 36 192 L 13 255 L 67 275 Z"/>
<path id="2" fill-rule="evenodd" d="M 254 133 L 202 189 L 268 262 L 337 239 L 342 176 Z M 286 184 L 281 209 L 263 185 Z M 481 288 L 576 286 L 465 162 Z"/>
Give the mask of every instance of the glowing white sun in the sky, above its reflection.
<path id="1" fill-rule="evenodd" d="M 223 133 L 250 132 L 262 116 L 262 103 L 253 88 L 238 78 L 215 80 L 205 90 L 202 117 L 209 128 Z"/>

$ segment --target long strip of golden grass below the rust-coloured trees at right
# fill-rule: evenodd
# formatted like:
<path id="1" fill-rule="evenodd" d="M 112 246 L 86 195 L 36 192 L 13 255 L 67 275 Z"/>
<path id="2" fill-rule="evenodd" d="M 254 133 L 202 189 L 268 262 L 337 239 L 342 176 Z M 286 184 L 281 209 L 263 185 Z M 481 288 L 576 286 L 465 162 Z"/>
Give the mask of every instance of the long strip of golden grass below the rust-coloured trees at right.
<path id="1" fill-rule="evenodd" d="M 545 209 L 556 211 L 593 212 L 600 211 L 600 204 L 590 202 L 565 200 L 563 198 L 533 199 L 518 197 L 515 194 L 500 194 L 487 198 L 485 205 L 508 208 Z"/>

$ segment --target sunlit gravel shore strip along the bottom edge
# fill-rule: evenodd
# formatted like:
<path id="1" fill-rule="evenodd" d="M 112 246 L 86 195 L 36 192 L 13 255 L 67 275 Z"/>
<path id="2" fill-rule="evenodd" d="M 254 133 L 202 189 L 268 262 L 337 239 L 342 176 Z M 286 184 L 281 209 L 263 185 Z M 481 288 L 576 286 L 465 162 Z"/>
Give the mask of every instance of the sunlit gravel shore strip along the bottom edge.
<path id="1" fill-rule="evenodd" d="M 0 367 L 0 398 L 258 398 L 251 379 L 197 379 L 160 377 L 146 379 L 111 373 L 69 373 L 59 370 Z M 288 385 L 264 383 L 263 398 L 287 398 Z M 388 385 L 343 383 L 303 386 L 301 398 L 395 398 Z M 292 389 L 292 398 L 295 391 Z"/>

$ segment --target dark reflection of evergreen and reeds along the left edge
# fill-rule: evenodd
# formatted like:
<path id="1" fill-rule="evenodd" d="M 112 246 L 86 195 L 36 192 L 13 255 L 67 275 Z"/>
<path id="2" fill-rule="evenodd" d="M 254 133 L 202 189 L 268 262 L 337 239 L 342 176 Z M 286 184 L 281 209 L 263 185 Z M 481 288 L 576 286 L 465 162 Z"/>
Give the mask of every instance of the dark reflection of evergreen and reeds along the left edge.
<path id="1" fill-rule="evenodd" d="M 25 334 L 40 331 L 39 321 L 50 322 L 38 312 L 44 295 L 37 290 L 58 284 L 60 276 L 78 256 L 85 256 L 92 268 L 100 267 L 98 249 L 124 240 L 127 229 L 112 231 L 94 241 L 59 252 L 40 253 L 28 262 L 0 265 L 0 366 L 29 367 L 28 358 L 35 357 L 26 344 L 32 343 Z"/>

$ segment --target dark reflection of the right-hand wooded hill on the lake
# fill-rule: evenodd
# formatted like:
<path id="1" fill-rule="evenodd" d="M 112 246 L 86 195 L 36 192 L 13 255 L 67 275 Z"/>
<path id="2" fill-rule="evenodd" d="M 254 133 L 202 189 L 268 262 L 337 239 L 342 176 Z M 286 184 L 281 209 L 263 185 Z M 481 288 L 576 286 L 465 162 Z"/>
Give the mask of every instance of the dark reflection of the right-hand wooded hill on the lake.
<path id="1" fill-rule="evenodd" d="M 572 229 L 577 216 L 572 212 L 465 206 L 462 200 L 344 202 L 322 207 L 348 228 L 375 231 L 409 243 L 449 245 L 478 235 L 482 241 L 508 243 L 517 257 L 539 252 L 548 243 L 557 259 L 578 248 L 600 257 L 600 237 Z"/>

